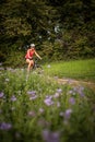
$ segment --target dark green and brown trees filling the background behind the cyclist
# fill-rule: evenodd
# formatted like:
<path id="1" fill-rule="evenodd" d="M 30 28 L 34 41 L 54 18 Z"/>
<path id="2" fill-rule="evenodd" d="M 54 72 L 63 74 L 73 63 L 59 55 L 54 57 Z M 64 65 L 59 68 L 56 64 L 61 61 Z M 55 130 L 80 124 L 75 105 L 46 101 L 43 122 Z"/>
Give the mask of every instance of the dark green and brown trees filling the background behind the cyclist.
<path id="1" fill-rule="evenodd" d="M 0 62 L 20 67 L 34 43 L 45 61 L 95 57 L 95 0 L 0 0 Z"/>

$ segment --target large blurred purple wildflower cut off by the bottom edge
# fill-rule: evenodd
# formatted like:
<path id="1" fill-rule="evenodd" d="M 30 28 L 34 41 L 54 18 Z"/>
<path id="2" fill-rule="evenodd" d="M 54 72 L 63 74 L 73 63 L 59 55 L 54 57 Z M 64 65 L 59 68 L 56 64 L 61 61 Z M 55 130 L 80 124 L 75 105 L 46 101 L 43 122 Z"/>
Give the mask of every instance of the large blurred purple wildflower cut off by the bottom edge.
<path id="1" fill-rule="evenodd" d="M 49 130 L 44 130 L 43 139 L 46 142 L 59 142 L 59 132 L 50 132 Z"/>

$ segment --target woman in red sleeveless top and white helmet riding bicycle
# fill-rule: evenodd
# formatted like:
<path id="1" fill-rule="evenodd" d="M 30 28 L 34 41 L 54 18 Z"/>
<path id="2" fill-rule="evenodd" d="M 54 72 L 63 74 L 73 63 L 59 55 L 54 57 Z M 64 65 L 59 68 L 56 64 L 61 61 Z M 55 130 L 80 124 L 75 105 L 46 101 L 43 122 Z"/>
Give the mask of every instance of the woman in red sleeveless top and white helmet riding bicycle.
<path id="1" fill-rule="evenodd" d="M 35 45 L 31 44 L 31 48 L 27 50 L 27 54 L 25 55 L 26 63 L 28 63 L 28 66 L 27 66 L 28 72 L 31 71 L 31 69 L 34 66 L 34 60 L 33 60 L 34 55 L 36 55 L 36 57 L 38 57 L 41 60 L 41 57 L 35 50 Z"/>

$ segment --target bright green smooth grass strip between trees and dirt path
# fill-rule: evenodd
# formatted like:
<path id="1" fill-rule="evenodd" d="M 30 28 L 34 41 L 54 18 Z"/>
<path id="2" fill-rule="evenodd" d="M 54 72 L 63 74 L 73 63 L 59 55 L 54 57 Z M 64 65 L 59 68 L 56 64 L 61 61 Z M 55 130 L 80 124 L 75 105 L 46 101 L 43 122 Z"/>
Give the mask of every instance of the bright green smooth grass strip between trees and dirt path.
<path id="1" fill-rule="evenodd" d="M 50 62 L 45 66 L 45 73 L 95 82 L 95 59 Z"/>

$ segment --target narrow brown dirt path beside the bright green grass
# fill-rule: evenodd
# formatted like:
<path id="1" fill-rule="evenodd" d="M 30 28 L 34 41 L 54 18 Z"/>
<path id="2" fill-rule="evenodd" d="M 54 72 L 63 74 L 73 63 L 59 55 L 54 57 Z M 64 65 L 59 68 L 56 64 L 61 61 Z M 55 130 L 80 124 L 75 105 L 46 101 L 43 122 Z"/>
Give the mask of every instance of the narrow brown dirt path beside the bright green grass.
<path id="1" fill-rule="evenodd" d="M 83 86 L 92 88 L 95 92 L 95 83 L 93 82 L 78 81 L 73 79 L 56 79 L 56 81 L 60 84 L 71 84 L 74 86 L 83 85 Z"/>

